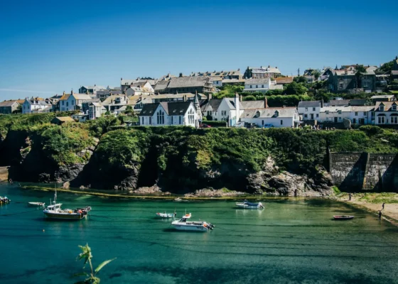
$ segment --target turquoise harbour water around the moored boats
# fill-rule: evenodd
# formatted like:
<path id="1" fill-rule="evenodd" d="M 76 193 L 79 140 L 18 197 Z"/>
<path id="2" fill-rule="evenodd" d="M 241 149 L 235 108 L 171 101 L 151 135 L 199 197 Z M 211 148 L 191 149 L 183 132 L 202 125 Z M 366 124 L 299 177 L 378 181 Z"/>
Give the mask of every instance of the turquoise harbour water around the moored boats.
<path id="1" fill-rule="evenodd" d="M 92 206 L 80 222 L 45 221 L 28 201 L 53 192 L 0 185 L 0 283 L 73 283 L 77 245 L 94 263 L 117 257 L 101 283 L 398 283 L 398 228 L 330 200 L 265 200 L 262 211 L 234 202 L 112 200 L 58 193 L 64 208 Z M 18 202 L 18 203 L 17 203 Z M 19 203 L 21 202 L 21 203 Z M 209 233 L 174 231 L 156 212 L 187 212 Z M 16 214 L 18 213 L 18 214 Z M 333 214 L 355 214 L 347 222 Z M 43 231 L 44 230 L 44 231 Z"/>

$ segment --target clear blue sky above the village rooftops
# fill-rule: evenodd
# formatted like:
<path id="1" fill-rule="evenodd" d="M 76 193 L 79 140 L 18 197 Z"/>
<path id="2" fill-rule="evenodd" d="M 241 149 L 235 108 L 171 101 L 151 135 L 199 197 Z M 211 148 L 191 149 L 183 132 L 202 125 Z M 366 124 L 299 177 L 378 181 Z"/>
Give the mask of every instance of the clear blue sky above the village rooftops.
<path id="1" fill-rule="evenodd" d="M 379 65 L 398 1 L 2 1 L 0 100 L 120 78 L 277 66 Z"/>

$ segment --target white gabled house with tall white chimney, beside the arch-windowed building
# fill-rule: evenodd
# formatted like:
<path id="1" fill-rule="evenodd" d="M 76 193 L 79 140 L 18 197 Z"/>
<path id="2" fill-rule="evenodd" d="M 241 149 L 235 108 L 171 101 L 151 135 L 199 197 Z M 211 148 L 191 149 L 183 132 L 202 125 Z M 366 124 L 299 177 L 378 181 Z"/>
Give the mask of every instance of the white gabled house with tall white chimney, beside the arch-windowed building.
<path id="1" fill-rule="evenodd" d="M 228 126 L 235 126 L 243 113 L 238 94 L 235 98 L 209 99 L 201 110 L 203 116 L 212 116 L 215 121 L 226 121 Z"/>

